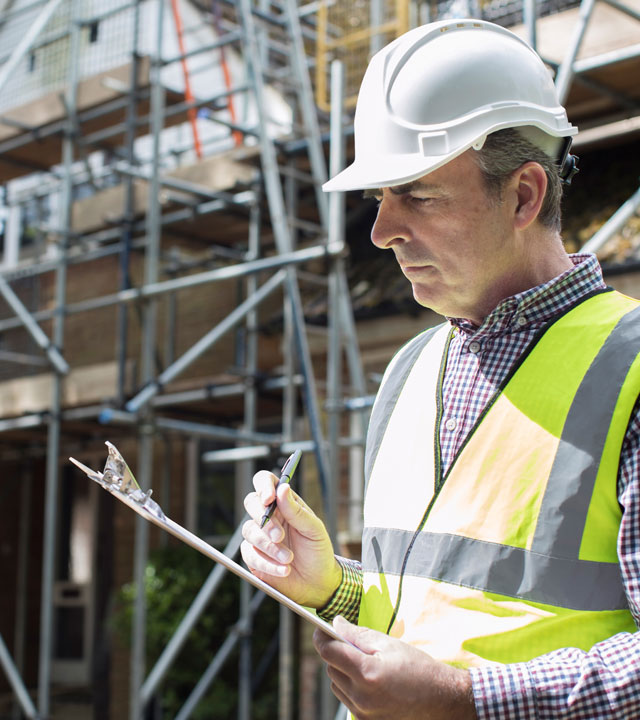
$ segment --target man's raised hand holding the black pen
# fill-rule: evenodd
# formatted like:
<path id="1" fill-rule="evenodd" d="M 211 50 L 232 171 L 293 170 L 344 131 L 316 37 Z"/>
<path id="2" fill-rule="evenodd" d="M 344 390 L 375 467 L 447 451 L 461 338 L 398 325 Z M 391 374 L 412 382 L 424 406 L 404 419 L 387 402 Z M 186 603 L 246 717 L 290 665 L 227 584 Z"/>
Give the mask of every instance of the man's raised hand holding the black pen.
<path id="1" fill-rule="evenodd" d="M 288 484 L 278 487 L 278 509 L 260 529 L 277 483 L 265 470 L 254 475 L 256 492 L 244 500 L 252 520 L 242 528 L 242 557 L 254 575 L 276 590 L 301 605 L 321 608 L 340 584 L 342 570 L 322 520 Z"/>

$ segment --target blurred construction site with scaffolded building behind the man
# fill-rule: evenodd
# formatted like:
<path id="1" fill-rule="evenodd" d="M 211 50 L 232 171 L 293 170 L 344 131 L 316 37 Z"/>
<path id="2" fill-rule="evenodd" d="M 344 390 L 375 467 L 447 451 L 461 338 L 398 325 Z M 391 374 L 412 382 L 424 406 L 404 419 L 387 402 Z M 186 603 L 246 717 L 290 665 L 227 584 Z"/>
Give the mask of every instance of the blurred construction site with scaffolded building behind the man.
<path id="1" fill-rule="evenodd" d="M 436 313 L 371 247 L 353 158 L 378 49 L 473 17 L 578 126 L 571 252 L 640 298 L 640 0 L 0 0 L 0 719 L 346 717 L 313 627 L 69 462 L 113 443 L 240 560 L 260 469 L 360 557 L 382 373 Z"/>

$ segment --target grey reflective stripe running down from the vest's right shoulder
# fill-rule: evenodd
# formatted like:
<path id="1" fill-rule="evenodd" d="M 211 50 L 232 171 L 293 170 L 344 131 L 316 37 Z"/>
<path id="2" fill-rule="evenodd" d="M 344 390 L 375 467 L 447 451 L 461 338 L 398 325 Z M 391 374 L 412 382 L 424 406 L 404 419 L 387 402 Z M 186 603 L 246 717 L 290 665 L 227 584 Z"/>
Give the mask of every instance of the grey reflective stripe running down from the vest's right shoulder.
<path id="1" fill-rule="evenodd" d="M 613 412 L 640 349 L 640 307 L 624 315 L 585 373 L 567 415 L 531 550 L 578 558 Z"/>

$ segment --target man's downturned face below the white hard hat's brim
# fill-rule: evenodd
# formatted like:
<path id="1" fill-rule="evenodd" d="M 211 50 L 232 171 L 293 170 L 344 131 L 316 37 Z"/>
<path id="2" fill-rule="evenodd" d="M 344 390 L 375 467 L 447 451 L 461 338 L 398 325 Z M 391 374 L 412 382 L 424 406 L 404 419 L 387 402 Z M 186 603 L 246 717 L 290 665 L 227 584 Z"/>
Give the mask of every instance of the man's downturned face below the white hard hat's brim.
<path id="1" fill-rule="evenodd" d="M 478 324 L 526 273 L 513 194 L 490 198 L 469 150 L 419 180 L 382 190 L 373 243 L 391 249 L 420 305 Z M 522 288 L 523 289 L 523 288 Z"/>

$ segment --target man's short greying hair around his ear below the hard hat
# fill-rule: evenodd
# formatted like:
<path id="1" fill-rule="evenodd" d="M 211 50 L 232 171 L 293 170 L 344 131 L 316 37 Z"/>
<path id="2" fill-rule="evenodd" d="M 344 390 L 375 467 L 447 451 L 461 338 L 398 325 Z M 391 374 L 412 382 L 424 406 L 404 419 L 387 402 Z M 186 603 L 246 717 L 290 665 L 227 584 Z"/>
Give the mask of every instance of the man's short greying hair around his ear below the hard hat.
<path id="1" fill-rule="evenodd" d="M 473 154 L 490 197 L 501 200 L 502 190 L 514 170 L 526 162 L 542 166 L 547 176 L 547 191 L 538 220 L 548 228 L 560 230 L 562 181 L 556 159 L 527 140 L 516 128 L 498 130 L 487 136 L 481 150 Z"/>

